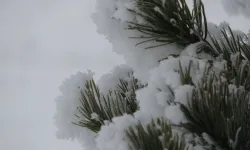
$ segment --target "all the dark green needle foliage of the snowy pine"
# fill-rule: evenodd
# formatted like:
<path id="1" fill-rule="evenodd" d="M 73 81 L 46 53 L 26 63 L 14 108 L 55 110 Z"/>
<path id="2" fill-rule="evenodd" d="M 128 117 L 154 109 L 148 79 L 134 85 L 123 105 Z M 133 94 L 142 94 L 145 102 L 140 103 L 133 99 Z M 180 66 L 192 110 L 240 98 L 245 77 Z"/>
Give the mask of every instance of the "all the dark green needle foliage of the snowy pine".
<path id="1" fill-rule="evenodd" d="M 203 41 L 200 49 L 211 54 L 214 60 L 226 60 L 219 74 L 211 70 L 214 60 L 208 60 L 210 67 L 205 69 L 198 86 L 192 81 L 193 62 L 190 61 L 187 68 L 179 63 L 181 83 L 195 87 L 188 104 L 180 104 L 189 121 L 181 127 L 201 138 L 203 133 L 210 136 L 216 143 L 208 150 L 249 150 L 250 46 L 247 37 L 235 35 L 229 26 L 221 30 L 223 37 L 220 39 L 210 35 L 204 5 L 198 1 L 193 0 L 191 11 L 185 0 L 136 0 L 136 9 L 130 11 L 145 22 L 130 22 L 129 29 L 141 33 L 140 37 L 133 37 L 143 39 L 138 44 L 158 43 L 147 48 L 171 43 L 186 47 Z M 134 77 L 131 82 L 121 79 L 117 90 L 104 96 L 93 80 L 88 81 L 81 92 L 79 114 L 76 114 L 79 121 L 74 124 L 98 132 L 105 121 L 111 122 L 113 117 L 125 113 L 133 115 L 140 109 L 136 90 L 143 87 Z M 174 92 L 171 94 L 175 96 Z M 171 103 L 174 98 L 168 102 Z M 186 150 L 186 142 L 172 133 L 172 126 L 164 118 L 153 119 L 146 127 L 142 123 L 130 126 L 126 130 L 130 150 Z"/>

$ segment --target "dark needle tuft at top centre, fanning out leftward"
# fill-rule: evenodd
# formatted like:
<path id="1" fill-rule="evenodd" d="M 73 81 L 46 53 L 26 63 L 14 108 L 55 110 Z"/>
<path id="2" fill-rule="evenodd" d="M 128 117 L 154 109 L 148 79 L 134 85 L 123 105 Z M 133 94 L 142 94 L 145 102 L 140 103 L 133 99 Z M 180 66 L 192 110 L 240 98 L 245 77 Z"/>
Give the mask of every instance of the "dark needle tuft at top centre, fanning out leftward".
<path id="1" fill-rule="evenodd" d="M 145 23 L 130 22 L 129 29 L 137 30 L 145 39 L 141 43 L 155 41 L 155 46 L 177 43 L 183 47 L 205 41 L 207 37 L 207 21 L 204 5 L 197 5 L 194 0 L 192 11 L 185 0 L 137 0 L 136 15 L 141 16 Z M 141 44 L 138 43 L 138 44 Z"/>

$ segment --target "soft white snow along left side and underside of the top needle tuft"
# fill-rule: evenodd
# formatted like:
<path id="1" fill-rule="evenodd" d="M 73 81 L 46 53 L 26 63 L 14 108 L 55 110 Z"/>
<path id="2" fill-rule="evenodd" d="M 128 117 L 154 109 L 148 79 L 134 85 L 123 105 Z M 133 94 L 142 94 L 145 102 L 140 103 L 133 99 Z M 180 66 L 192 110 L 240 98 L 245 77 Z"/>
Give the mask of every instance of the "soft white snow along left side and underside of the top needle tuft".
<path id="1" fill-rule="evenodd" d="M 96 12 L 93 14 L 93 21 L 97 25 L 97 31 L 104 35 L 107 40 L 112 44 L 114 52 L 124 56 L 124 59 L 133 70 L 134 75 L 139 78 L 143 83 L 149 79 L 149 72 L 151 68 L 158 65 L 158 60 L 166 58 L 170 54 L 179 54 L 181 48 L 175 44 L 167 46 L 156 47 L 154 49 L 145 50 L 148 46 L 156 45 L 154 41 L 147 42 L 142 45 L 135 46 L 141 42 L 141 39 L 132 39 L 129 37 L 140 37 L 142 33 L 135 30 L 126 30 L 128 23 L 119 19 L 112 18 L 116 11 L 126 8 L 125 3 L 133 3 L 134 0 L 97 0 Z M 123 5 L 123 6 L 122 6 Z M 132 8 L 130 8 L 132 9 Z M 130 13 L 128 11 L 128 13 Z M 134 14 L 135 15 L 135 14 Z M 143 20 L 134 16 L 133 22 L 143 22 Z M 139 18 L 139 20 L 136 20 Z"/>

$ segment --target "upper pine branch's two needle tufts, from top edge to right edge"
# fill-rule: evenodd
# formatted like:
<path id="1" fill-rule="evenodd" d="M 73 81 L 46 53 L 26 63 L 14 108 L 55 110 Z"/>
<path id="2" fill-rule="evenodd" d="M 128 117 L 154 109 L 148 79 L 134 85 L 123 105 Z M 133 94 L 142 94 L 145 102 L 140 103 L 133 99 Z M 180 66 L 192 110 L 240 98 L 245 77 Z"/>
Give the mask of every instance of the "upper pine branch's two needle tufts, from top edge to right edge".
<path id="1" fill-rule="evenodd" d="M 196 0 L 193 2 L 194 8 L 190 11 L 185 0 L 137 0 L 136 10 L 130 11 L 141 16 L 145 23 L 130 22 L 128 28 L 142 33 L 139 37 L 133 37 L 143 39 L 137 45 L 154 41 L 156 45 L 146 49 L 171 43 L 186 47 L 203 41 L 199 50 L 214 57 L 222 54 L 230 62 L 230 54 L 241 52 L 242 57 L 250 60 L 250 46 L 242 37 L 235 36 L 229 26 L 221 30 L 221 39 L 208 33 L 204 5 L 202 2 L 197 5 Z M 207 41 L 207 35 L 210 36 L 210 42 Z"/>

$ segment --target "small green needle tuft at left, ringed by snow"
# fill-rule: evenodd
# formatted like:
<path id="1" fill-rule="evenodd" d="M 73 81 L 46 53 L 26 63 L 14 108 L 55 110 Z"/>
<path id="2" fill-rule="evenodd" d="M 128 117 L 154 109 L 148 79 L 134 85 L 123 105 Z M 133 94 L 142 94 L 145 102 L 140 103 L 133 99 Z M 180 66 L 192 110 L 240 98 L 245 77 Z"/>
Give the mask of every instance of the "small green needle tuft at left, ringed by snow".
<path id="1" fill-rule="evenodd" d="M 142 86 L 136 85 L 135 78 L 130 84 L 132 90 L 128 87 L 127 81 L 120 80 L 118 90 L 110 91 L 104 96 L 100 93 L 94 80 L 87 81 L 85 90 L 81 91 L 81 105 L 77 106 L 79 114 L 75 114 L 79 121 L 73 124 L 98 132 L 105 121 L 112 121 L 113 117 L 122 116 L 125 113 L 133 114 L 139 109 L 135 91 Z M 131 94 L 126 95 L 129 90 L 131 90 Z"/>

